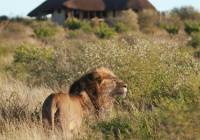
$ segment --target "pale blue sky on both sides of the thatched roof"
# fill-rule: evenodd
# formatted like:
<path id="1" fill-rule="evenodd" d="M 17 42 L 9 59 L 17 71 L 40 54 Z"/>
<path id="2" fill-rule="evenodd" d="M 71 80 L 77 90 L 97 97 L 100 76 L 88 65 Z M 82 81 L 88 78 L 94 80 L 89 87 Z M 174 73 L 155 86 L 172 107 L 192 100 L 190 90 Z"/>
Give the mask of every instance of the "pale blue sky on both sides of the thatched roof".
<path id="1" fill-rule="evenodd" d="M 14 2 L 15 1 L 15 2 Z M 45 0 L 0 0 L 0 15 L 9 17 L 26 16 L 32 9 Z M 114 0 L 113 0 L 114 1 Z M 200 11 L 200 0 L 149 0 L 159 11 L 174 7 L 194 6 Z"/>

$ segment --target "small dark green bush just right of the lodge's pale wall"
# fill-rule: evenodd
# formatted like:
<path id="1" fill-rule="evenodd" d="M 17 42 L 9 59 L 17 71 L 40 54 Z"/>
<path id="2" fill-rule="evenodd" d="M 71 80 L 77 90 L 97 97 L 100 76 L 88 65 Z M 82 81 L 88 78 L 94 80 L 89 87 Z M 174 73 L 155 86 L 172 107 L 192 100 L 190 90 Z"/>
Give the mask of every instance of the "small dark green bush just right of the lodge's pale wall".
<path id="1" fill-rule="evenodd" d="M 70 30 L 76 30 L 81 28 L 81 21 L 77 18 L 68 18 L 65 21 L 64 26 L 69 28 Z"/>

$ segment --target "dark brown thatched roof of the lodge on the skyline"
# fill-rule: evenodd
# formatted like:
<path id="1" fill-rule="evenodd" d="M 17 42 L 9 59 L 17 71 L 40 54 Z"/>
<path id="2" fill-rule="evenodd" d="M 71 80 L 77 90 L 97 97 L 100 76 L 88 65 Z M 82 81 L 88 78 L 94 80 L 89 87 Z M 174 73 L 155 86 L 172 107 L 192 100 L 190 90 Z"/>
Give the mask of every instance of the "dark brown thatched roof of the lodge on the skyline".
<path id="1" fill-rule="evenodd" d="M 83 11 L 111 11 L 133 9 L 155 9 L 148 0 L 47 0 L 31 11 L 28 16 L 43 16 L 58 9 L 78 9 Z"/>

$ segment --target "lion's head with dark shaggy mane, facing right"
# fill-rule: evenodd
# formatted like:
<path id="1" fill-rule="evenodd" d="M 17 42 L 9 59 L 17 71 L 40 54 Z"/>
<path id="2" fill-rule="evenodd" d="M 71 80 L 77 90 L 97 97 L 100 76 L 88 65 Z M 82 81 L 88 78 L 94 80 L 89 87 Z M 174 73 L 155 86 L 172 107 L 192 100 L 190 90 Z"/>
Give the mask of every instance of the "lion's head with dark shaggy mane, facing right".
<path id="1" fill-rule="evenodd" d="M 69 90 L 71 96 L 87 93 L 96 110 L 104 108 L 115 97 L 125 97 L 127 85 L 109 69 L 100 67 L 75 81 Z"/>

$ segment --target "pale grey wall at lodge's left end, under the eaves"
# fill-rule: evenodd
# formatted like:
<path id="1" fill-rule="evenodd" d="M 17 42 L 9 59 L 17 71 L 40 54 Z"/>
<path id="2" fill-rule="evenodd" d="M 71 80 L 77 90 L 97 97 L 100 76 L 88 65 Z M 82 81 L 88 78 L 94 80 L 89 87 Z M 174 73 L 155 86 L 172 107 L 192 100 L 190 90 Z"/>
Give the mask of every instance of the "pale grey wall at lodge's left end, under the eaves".
<path id="1" fill-rule="evenodd" d="M 54 11 L 52 14 L 52 21 L 60 25 L 63 25 L 65 22 L 66 13 L 64 10 Z"/>

